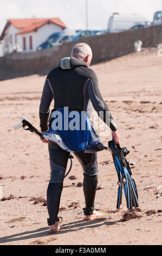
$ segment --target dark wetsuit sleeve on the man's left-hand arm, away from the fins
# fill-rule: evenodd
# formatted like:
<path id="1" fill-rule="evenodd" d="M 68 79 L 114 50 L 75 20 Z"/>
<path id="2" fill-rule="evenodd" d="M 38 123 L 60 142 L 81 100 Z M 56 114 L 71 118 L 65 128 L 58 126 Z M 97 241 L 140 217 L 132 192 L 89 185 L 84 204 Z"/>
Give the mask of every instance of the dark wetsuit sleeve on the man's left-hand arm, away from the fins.
<path id="1" fill-rule="evenodd" d="M 40 127 L 41 131 L 48 130 L 49 107 L 53 100 L 53 89 L 50 81 L 46 79 L 43 87 L 41 103 L 40 103 Z"/>

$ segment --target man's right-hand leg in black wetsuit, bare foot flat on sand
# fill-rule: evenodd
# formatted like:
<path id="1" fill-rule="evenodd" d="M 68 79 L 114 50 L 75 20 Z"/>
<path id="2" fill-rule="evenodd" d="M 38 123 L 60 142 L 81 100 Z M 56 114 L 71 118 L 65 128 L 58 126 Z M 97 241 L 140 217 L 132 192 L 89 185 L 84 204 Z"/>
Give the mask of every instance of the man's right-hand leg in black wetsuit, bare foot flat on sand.
<path id="1" fill-rule="evenodd" d="M 85 220 L 91 221 L 96 218 L 101 218 L 99 212 L 94 210 L 94 200 L 96 188 L 98 185 L 98 162 L 97 153 L 83 153 L 82 151 L 75 153 L 75 156 L 81 163 L 83 168 L 83 192 L 85 195 L 86 207 L 83 208 L 84 214 L 86 215 Z"/>

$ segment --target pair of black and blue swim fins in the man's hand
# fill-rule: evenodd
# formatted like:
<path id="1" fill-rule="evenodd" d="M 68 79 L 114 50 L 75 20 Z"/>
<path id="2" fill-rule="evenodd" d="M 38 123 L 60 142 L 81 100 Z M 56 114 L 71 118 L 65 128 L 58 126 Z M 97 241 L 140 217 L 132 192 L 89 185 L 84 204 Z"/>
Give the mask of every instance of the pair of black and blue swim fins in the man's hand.
<path id="1" fill-rule="evenodd" d="M 132 172 L 127 160 L 126 155 L 129 153 L 127 148 L 120 148 L 119 144 L 115 145 L 115 141 L 109 141 L 108 147 L 112 150 L 112 156 L 116 172 L 118 174 L 118 199 L 116 208 L 120 208 L 122 199 L 122 187 L 124 187 L 124 193 L 127 202 L 127 208 L 132 210 L 133 206 L 138 207 L 138 193 L 134 179 L 131 178 Z"/>

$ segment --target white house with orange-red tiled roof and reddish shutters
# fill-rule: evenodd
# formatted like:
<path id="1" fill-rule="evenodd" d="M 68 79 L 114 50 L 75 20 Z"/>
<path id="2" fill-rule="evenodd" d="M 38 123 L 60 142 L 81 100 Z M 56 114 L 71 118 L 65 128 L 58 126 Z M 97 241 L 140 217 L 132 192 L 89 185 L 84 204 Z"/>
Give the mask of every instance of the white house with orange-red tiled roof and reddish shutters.
<path id="1" fill-rule="evenodd" d="M 49 35 L 61 32 L 66 25 L 57 17 L 51 19 L 11 19 L 7 21 L 0 41 L 3 53 L 13 52 L 14 46 L 20 46 L 23 52 L 36 51 Z"/>

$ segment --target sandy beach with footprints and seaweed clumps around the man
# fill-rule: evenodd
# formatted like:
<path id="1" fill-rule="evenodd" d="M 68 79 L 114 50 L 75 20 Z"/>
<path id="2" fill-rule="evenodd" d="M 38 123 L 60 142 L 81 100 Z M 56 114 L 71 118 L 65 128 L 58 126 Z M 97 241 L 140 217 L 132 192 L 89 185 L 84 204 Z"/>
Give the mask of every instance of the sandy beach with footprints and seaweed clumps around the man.
<path id="1" fill-rule="evenodd" d="M 121 209 L 116 211 L 116 170 L 112 155 L 102 151 L 98 153 L 95 208 L 105 218 L 83 221 L 83 188 L 77 185 L 83 181 L 83 172 L 74 159 L 69 176 L 76 179 L 64 179 L 59 212 L 66 229 L 50 236 L 46 206 L 50 176 L 47 144 L 28 131 L 13 129 L 21 116 L 39 128 L 38 109 L 46 76 L 0 81 L 1 245 L 161 244 L 161 65 L 162 57 L 149 48 L 90 67 L 98 75 L 103 99 L 118 125 L 120 144 L 131 151 L 127 160 L 135 163 L 131 167 L 139 194 L 137 218 L 122 221 L 127 211 L 124 196 Z M 111 132 L 108 135 L 108 130 L 104 131 L 101 130 L 100 138 L 107 145 Z"/>

